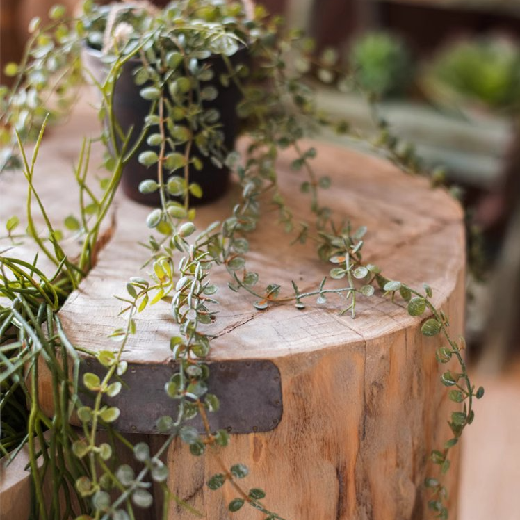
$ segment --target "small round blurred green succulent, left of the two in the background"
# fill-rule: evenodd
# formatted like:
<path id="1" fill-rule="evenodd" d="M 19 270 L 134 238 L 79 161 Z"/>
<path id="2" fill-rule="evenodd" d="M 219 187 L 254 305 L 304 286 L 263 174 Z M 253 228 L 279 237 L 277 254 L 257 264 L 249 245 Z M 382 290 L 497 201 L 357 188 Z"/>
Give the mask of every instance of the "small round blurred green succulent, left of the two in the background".
<path id="1" fill-rule="evenodd" d="M 349 65 L 359 86 L 377 97 L 403 95 L 413 76 L 405 42 L 386 32 L 366 33 L 352 42 Z"/>

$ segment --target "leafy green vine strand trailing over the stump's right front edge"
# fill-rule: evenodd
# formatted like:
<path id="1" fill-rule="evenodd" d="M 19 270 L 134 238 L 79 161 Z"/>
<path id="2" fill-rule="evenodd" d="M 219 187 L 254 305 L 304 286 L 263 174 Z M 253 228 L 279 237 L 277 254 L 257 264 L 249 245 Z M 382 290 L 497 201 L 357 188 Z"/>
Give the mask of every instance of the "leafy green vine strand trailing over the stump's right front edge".
<path id="1" fill-rule="evenodd" d="M 326 296 L 335 294 L 338 296 L 346 295 L 346 300 L 350 300 L 348 305 L 341 310 L 341 314 L 350 311 L 352 318 L 354 318 L 356 312 L 355 295 L 371 297 L 375 293 L 375 289 L 380 288 L 383 291 L 383 295 L 391 296 L 392 302 L 396 301 L 396 294 L 399 294 L 407 302 L 407 313 L 410 316 L 430 314 L 432 317 L 424 320 L 421 332 L 424 336 L 436 336 L 437 334 L 444 336 L 448 346 L 437 349 L 435 353 L 437 361 L 440 364 L 444 364 L 451 359 L 455 359 L 460 371 L 445 371 L 441 375 L 441 383 L 445 387 L 451 388 L 448 392 L 448 397 L 451 401 L 457 404 L 464 403 L 462 410 L 453 412 L 450 421 L 448 421 L 453 437 L 448 439 L 441 449 L 433 450 L 430 455 L 432 462 L 437 464 L 440 472 L 444 474 L 450 468 L 450 459 L 448 457 L 450 450 L 457 445 L 464 428 L 470 425 L 475 417 L 473 398 L 482 398 L 484 389 L 482 387 L 476 389 L 471 383 L 462 354 L 465 346 L 464 339 L 460 338 L 459 341 L 456 341 L 450 336 L 448 317 L 432 303 L 433 293 L 430 286 L 424 284 L 424 292 L 421 293 L 403 282 L 387 279 L 382 275 L 380 268 L 377 266 L 362 262 L 361 250 L 363 241 L 361 237 L 364 236 L 365 232 L 365 228 L 360 228 L 352 236 L 350 227 L 347 227 L 346 234 L 335 237 L 337 247 L 336 250 L 332 251 L 330 261 L 336 264 L 337 267 L 330 270 L 330 277 L 333 279 L 346 277 L 348 285 L 340 289 L 326 289 L 326 278 L 324 278 L 319 288 L 315 291 L 301 293 L 298 290 L 298 286 L 292 282 L 294 294 L 292 296 L 279 297 L 278 294 L 281 287 L 279 284 L 270 284 L 266 293 L 261 294 L 245 284 L 243 279 L 240 279 L 235 272 L 232 272 L 231 275 L 236 286 L 240 286 L 257 298 L 261 298 L 261 300 L 254 303 L 254 307 L 259 310 L 266 309 L 269 304 L 284 304 L 286 302 L 293 302 L 298 309 L 304 309 L 304 300 L 306 298 L 316 298 L 318 296 L 318 304 L 325 304 L 327 301 Z M 329 236 L 327 239 L 330 240 L 331 237 Z M 339 243 L 343 243 L 345 250 L 339 248 Z M 355 279 L 360 282 L 358 287 L 355 286 Z M 439 478 L 433 477 L 425 479 L 425 486 L 432 491 L 432 499 L 428 502 L 428 506 L 434 512 L 435 517 L 447 519 L 448 510 L 445 501 L 448 498 L 448 491 L 446 487 L 441 484 Z"/>

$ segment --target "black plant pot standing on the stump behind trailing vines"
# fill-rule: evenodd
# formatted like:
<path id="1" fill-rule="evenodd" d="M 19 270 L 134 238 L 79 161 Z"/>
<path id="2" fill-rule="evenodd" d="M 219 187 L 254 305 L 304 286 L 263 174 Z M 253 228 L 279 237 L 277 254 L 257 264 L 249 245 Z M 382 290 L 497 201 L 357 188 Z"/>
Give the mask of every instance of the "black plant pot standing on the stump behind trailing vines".
<path id="1" fill-rule="evenodd" d="M 101 60 L 101 52 L 95 49 L 85 49 L 83 60 L 88 69 L 98 81 L 103 81 L 106 74 L 106 65 Z M 233 65 L 244 63 L 247 60 L 247 49 L 241 49 L 230 58 Z M 236 85 L 231 81 L 229 86 L 222 87 L 219 81 L 220 74 L 227 72 L 227 67 L 221 56 L 215 55 L 207 58 L 206 63 L 210 63 L 214 72 L 214 79 L 204 83 L 205 86 L 214 86 L 218 90 L 218 96 L 213 101 L 203 101 L 204 110 L 216 108 L 220 113 L 220 123 L 224 133 L 225 149 L 232 151 L 236 135 L 238 133 L 238 115 L 236 106 L 241 99 L 241 94 Z M 133 70 L 138 67 L 138 60 L 131 60 L 122 68 L 121 75 L 115 84 L 114 90 L 114 114 L 122 130 L 126 133 L 131 127 L 133 131 L 130 138 L 130 146 L 138 138 L 142 129 L 145 117 L 149 114 L 151 101 L 140 97 L 139 91 L 146 85 L 137 86 L 133 81 Z M 167 94 L 168 95 L 168 94 Z M 182 121 L 179 124 L 183 124 Z M 150 133 L 156 129 L 152 127 Z M 194 152 L 197 152 L 196 145 Z M 138 190 L 141 181 L 145 179 L 156 179 L 154 166 L 147 168 L 138 161 L 138 156 L 145 150 L 152 149 L 143 143 L 133 158 L 124 167 L 121 186 L 124 193 L 133 200 L 150 206 L 160 204 L 159 192 L 143 194 Z M 183 153 L 181 146 L 177 149 Z M 201 198 L 190 198 L 190 204 L 205 204 L 221 197 L 227 190 L 229 184 L 229 169 L 226 166 L 218 168 L 209 158 L 197 154 L 202 159 L 202 170 L 196 170 L 190 166 L 190 182 L 195 182 L 202 188 Z"/>

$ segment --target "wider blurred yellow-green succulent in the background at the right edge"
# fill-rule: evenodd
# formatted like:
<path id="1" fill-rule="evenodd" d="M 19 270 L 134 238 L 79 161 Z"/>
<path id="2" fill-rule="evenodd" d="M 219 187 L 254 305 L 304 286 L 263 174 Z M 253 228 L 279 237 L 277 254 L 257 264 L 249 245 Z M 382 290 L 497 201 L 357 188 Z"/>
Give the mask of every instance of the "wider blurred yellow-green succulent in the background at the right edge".
<path id="1" fill-rule="evenodd" d="M 520 48 L 510 40 L 462 40 L 442 49 L 421 80 L 432 99 L 510 108 L 520 100 Z"/>

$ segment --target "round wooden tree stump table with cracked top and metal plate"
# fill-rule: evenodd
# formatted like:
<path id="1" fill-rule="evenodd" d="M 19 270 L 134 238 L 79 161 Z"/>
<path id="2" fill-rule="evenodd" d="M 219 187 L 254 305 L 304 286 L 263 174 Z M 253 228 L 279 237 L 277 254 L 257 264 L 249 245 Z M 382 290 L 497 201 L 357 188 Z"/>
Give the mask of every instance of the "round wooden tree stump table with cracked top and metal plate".
<path id="1" fill-rule="evenodd" d="M 88 117 L 73 117 L 44 143 L 35 179 L 42 192 L 46 183 L 70 183 L 65 179 L 72 176 L 70 160 L 79 147 L 79 139 L 71 136 L 77 138 L 88 125 L 95 127 L 93 116 Z M 433 190 L 428 181 L 409 177 L 381 159 L 325 144 L 314 146 L 315 170 L 332 179 L 332 188 L 322 192 L 323 203 L 338 220 L 368 227 L 364 258 L 391 279 L 418 288 L 423 282 L 430 284 L 432 301 L 450 317 L 451 334 L 462 333 L 464 229 L 457 202 L 444 190 Z M 99 157 L 99 150 L 94 155 Z M 284 153 L 277 169 L 298 222 L 309 218 L 309 200 L 298 193 L 301 177 L 291 171 L 293 159 Z M 96 159 L 91 164 L 93 169 Z M 1 193 L 15 193 L 23 179 L 7 177 L 0 182 Z M 56 196 L 50 188 L 42 193 L 44 201 Z M 237 196 L 233 187 L 222 200 L 197 209 L 197 227 L 229 216 Z M 68 195 L 61 202 L 64 207 L 56 207 L 57 218 L 74 209 Z M 7 205 L 2 219 L 13 213 L 13 204 Z M 138 242 L 149 236 L 148 212 L 124 197 L 116 200 L 113 229 L 97 265 L 59 314 L 73 344 L 114 349 L 107 336 L 123 323 L 117 317 L 121 302 L 114 295 L 124 295 L 129 277 L 147 273 L 147 268 L 140 268 L 147 250 Z M 291 238 L 276 220 L 275 212 L 266 211 L 251 234 L 248 268 L 257 271 L 265 285 L 282 284 L 282 292 L 290 292 L 291 279 L 301 291 L 316 289 L 330 266 L 318 261 L 311 243 L 290 245 Z M 404 302 L 393 303 L 377 292 L 359 298 L 355 319 L 339 314 L 339 300 L 334 297 L 325 305 L 307 302 L 304 310 L 279 305 L 257 311 L 250 295 L 227 288 L 224 269 L 215 271 L 212 283 L 220 288 L 216 294 L 220 307 L 207 332 L 215 336 L 210 385 L 221 398 L 222 412 L 210 416 L 212 427 L 231 433 L 230 445 L 220 451 L 225 464 L 249 466 L 245 485 L 265 489 L 266 505 L 287 520 L 427 518 L 423 481 L 437 474 L 429 455 L 449 438 L 446 423 L 455 405 L 439 382 L 435 350 L 441 340 L 420 332 L 424 317 L 409 316 Z M 123 353 L 129 362 L 124 376 L 129 389 L 110 401 L 121 408 L 116 426 L 143 434 L 159 446 L 162 439 L 154 433 L 155 421 L 172 414 L 174 407 L 164 384 L 174 371 L 169 340 L 176 327 L 166 302 L 138 314 L 136 323 L 137 332 Z M 96 368 L 90 364 L 87 369 Z M 42 385 L 40 395 L 47 395 L 51 410 L 51 393 L 46 394 Z M 206 487 L 207 480 L 221 471 L 211 453 L 193 457 L 185 444 L 174 442 L 166 460 L 168 486 L 177 496 L 209 520 L 231 516 L 227 503 L 236 491 L 229 485 L 223 491 Z M 455 518 L 456 451 L 452 460 L 445 482 L 450 518 Z M 161 506 L 156 507 L 159 512 Z M 170 505 L 171 520 L 188 517 L 191 514 L 182 507 Z M 243 507 L 232 517 L 256 520 L 265 515 Z"/>

